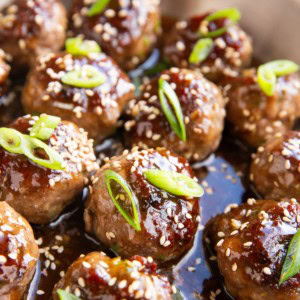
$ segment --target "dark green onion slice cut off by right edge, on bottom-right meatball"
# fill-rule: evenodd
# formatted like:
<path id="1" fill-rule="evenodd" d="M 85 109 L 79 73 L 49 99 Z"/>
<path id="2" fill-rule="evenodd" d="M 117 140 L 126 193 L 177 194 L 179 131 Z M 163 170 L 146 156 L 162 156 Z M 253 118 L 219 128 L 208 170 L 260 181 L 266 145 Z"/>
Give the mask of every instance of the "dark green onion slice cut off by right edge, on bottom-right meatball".
<path id="1" fill-rule="evenodd" d="M 300 272 L 300 229 L 293 236 L 281 270 L 279 285 Z"/>

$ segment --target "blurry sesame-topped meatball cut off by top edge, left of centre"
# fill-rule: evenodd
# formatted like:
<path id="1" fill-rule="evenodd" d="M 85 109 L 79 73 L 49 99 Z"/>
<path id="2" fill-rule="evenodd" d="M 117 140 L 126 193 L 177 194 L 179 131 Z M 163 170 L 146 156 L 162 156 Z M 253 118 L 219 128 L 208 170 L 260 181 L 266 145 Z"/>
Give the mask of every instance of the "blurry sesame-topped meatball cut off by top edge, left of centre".
<path id="1" fill-rule="evenodd" d="M 94 2 L 73 2 L 71 31 L 98 42 L 124 70 L 136 67 L 161 31 L 160 0 L 111 0 L 101 13 L 88 16 Z"/>

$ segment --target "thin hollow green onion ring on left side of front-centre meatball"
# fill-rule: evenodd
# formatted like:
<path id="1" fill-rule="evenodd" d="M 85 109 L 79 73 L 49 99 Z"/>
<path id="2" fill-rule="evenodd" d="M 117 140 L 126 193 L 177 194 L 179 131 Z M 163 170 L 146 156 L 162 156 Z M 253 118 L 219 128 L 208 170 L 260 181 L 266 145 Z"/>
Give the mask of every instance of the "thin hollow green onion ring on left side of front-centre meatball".
<path id="1" fill-rule="evenodd" d="M 114 205 L 120 212 L 120 214 L 125 218 L 125 220 L 136 230 L 140 231 L 141 230 L 141 225 L 140 225 L 140 216 L 138 212 L 138 201 L 134 195 L 134 193 L 131 190 L 131 187 L 128 185 L 128 183 L 125 181 L 125 179 L 120 176 L 118 173 L 112 171 L 112 170 L 106 170 L 104 172 L 104 178 L 106 181 L 106 187 L 107 191 L 109 193 L 109 196 L 111 197 Z M 133 212 L 133 216 L 131 216 L 119 203 L 119 200 L 116 199 L 116 197 L 113 195 L 112 187 L 111 187 L 111 181 L 114 180 L 117 182 L 123 190 L 126 192 L 130 202 L 131 202 L 131 208 Z M 122 200 L 121 200 L 122 201 Z"/>

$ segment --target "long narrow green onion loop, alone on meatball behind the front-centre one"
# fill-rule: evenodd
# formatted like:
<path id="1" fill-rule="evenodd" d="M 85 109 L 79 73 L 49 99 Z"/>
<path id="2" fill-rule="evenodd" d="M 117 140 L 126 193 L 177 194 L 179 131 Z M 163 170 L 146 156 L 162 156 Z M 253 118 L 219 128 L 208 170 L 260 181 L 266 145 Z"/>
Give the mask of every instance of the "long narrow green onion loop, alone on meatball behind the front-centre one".
<path id="1" fill-rule="evenodd" d="M 178 137 L 185 142 L 186 131 L 180 102 L 170 84 L 162 78 L 160 78 L 158 81 L 158 94 L 162 110 L 168 122 L 170 123 L 171 127 L 173 128 L 174 132 L 178 135 Z M 175 114 L 173 113 L 172 108 L 168 103 L 168 100 L 170 101 Z"/>

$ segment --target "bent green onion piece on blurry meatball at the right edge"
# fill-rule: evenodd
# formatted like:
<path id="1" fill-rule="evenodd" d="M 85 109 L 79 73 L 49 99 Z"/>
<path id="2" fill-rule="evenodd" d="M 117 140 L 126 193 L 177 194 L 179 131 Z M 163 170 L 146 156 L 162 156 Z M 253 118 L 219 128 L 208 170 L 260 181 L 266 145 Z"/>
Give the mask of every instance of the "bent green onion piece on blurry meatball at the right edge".
<path id="1" fill-rule="evenodd" d="M 276 77 L 289 75 L 299 70 L 299 66 L 290 60 L 275 60 L 259 66 L 257 82 L 267 96 L 273 96 Z"/>

